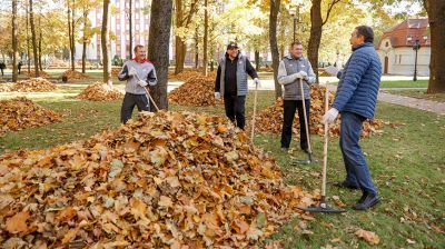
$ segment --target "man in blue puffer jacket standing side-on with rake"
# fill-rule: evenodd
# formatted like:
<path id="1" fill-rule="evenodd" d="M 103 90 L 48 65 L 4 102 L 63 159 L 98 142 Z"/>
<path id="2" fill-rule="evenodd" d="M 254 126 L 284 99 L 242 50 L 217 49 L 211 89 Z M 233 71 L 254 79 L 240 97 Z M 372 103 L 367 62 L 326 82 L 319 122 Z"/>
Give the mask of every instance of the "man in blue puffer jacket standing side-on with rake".
<path id="1" fill-rule="evenodd" d="M 373 41 L 374 31 L 367 26 L 357 27 L 350 34 L 353 54 L 345 69 L 337 73 L 337 93 L 332 109 L 323 117 L 323 122 L 334 122 L 338 113 L 342 113 L 340 149 L 346 180 L 336 186 L 362 189 L 363 196 L 354 206 L 356 210 L 368 209 L 380 201 L 358 145 L 363 122 L 374 118 L 380 84 L 382 63 Z"/>

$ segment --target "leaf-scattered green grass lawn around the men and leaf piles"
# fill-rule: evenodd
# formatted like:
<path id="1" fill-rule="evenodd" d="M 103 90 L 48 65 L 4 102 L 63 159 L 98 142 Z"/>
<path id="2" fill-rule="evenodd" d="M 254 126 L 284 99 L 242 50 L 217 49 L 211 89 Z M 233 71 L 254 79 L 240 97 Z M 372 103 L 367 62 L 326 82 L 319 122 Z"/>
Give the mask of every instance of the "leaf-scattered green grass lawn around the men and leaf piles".
<path id="1" fill-rule="evenodd" d="M 91 102 L 73 98 L 86 83 L 79 81 L 61 86 L 56 93 L 27 94 L 46 108 L 63 114 L 63 121 L 8 132 L 0 138 L 0 153 L 4 150 L 40 149 L 87 139 L 103 129 L 120 126 L 120 101 Z M 0 99 L 11 97 L 14 94 L 0 93 Z M 250 117 L 253 110 L 251 97 L 247 99 L 247 117 Z M 259 92 L 259 110 L 273 102 L 274 92 Z M 222 106 L 196 108 L 171 104 L 170 110 L 224 114 Z M 379 102 L 376 118 L 403 123 L 397 128 L 386 126 L 383 135 L 362 142 L 383 202 L 369 211 L 354 211 L 349 207 L 360 197 L 360 192 L 332 187 L 333 182 L 344 179 L 345 170 L 338 138 L 330 138 L 327 191 L 329 197 L 336 196 L 346 203 L 348 212 L 317 215 L 308 223 L 307 230 L 313 232 L 310 235 L 295 229 L 299 222 L 296 217 L 268 240 L 280 240 L 284 248 L 329 248 L 329 245 L 338 248 L 372 248 L 354 235 L 362 228 L 380 237 L 376 248 L 445 247 L 445 150 L 442 141 L 445 138 L 445 117 Z M 287 183 L 299 185 L 308 190 L 319 188 L 320 165 L 290 165 L 293 158 L 304 157 L 296 149 L 297 141 L 293 141 L 291 147 L 295 149 L 290 153 L 279 150 L 278 135 L 257 135 L 255 143 L 275 156 Z M 315 156 L 322 159 L 322 137 L 313 136 L 313 147 Z M 336 207 L 332 198 L 328 202 Z M 407 239 L 415 243 L 409 245 Z"/>

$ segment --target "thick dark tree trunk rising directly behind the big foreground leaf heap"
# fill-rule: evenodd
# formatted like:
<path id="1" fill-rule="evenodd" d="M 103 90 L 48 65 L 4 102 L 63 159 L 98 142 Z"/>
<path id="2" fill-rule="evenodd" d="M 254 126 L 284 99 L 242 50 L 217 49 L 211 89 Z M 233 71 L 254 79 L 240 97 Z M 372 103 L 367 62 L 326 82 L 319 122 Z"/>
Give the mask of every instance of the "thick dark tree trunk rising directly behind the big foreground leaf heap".
<path id="1" fill-rule="evenodd" d="M 155 63 L 158 83 L 150 89 L 156 104 L 160 109 L 168 109 L 168 48 L 171 29 L 172 0 L 157 0 L 151 3 L 149 48 L 150 60 Z"/>

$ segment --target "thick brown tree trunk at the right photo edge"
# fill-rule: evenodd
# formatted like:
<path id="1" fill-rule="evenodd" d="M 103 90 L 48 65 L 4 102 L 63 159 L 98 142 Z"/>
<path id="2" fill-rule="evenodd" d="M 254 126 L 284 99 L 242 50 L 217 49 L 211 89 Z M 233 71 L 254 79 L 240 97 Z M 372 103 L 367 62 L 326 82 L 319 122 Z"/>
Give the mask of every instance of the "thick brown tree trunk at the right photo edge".
<path id="1" fill-rule="evenodd" d="M 429 82 L 427 93 L 445 92 L 445 1 L 425 0 L 431 37 Z M 421 48 L 422 49 L 422 48 Z"/>

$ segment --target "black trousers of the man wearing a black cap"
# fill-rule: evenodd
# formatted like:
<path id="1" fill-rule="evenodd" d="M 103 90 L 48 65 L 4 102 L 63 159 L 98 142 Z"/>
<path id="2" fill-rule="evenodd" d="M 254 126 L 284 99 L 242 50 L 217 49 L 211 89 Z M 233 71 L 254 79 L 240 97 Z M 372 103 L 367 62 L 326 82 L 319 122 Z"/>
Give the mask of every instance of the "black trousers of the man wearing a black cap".
<path id="1" fill-rule="evenodd" d="M 226 116 L 230 119 L 230 121 L 235 122 L 237 127 L 244 130 L 246 124 L 246 116 L 245 116 L 245 103 L 246 96 L 225 96 L 224 97 L 224 107 L 226 109 Z"/>

